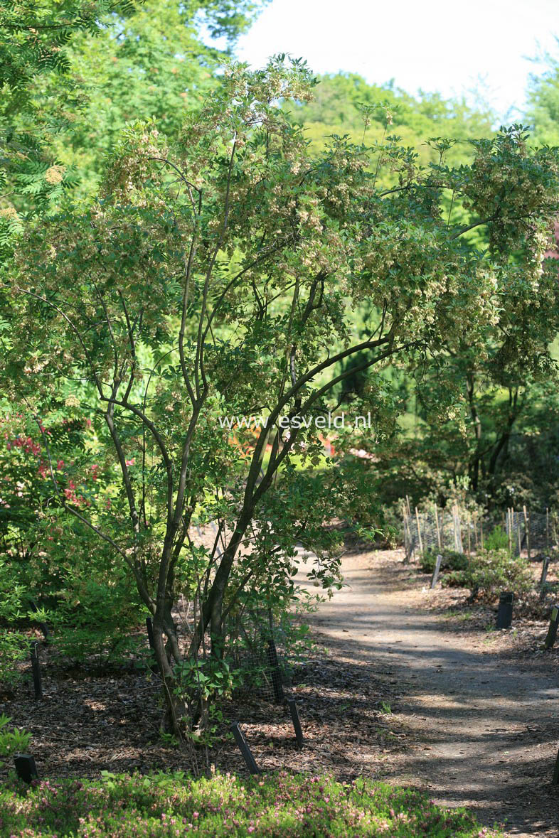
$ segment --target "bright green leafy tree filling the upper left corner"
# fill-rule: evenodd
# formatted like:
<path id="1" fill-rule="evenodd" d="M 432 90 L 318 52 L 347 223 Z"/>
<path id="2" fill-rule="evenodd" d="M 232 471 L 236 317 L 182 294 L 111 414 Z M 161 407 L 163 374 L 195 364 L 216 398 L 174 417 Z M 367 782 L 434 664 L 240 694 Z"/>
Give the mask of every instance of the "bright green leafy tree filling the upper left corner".
<path id="1" fill-rule="evenodd" d="M 95 192 L 127 120 L 179 127 L 181 96 L 207 88 L 219 54 L 202 43 L 201 24 L 232 43 L 260 6 L 0 0 L 0 254 L 22 217 L 60 205 L 69 188 Z"/>

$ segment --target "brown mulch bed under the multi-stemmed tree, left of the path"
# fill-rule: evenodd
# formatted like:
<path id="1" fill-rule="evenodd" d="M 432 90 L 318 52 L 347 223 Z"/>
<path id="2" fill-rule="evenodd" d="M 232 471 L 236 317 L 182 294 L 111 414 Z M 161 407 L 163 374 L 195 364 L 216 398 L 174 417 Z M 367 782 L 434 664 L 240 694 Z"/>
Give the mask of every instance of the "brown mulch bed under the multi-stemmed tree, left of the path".
<path id="1" fill-rule="evenodd" d="M 30 667 L 12 693 L 0 694 L 0 713 L 33 735 L 39 776 L 95 778 L 101 771 L 147 773 L 153 770 L 193 770 L 191 747 L 164 742 L 158 677 L 132 667 L 99 672 L 56 665 L 46 644 L 39 652 L 43 674 L 42 699 L 35 699 Z M 289 696 L 300 700 L 299 715 L 305 744 L 298 751 L 287 704 L 241 696 L 222 707 L 216 744 L 197 747 L 195 763 L 202 772 L 213 764 L 222 771 L 247 773 L 228 730 L 239 721 L 256 763 L 264 770 L 287 768 L 333 773 L 353 779 L 375 773 L 391 752 L 403 747 L 405 734 L 383 712 L 383 702 L 397 703 L 396 682 L 380 667 L 315 653 L 295 671 Z M 0 768 L 4 779 L 9 764 Z"/>

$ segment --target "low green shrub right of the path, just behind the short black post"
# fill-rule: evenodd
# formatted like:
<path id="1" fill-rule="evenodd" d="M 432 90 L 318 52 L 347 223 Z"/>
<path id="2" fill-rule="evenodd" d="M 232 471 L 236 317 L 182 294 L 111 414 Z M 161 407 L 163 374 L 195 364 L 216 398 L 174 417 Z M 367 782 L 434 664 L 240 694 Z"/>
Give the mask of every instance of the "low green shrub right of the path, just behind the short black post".
<path id="1" fill-rule="evenodd" d="M 471 597 L 482 594 L 490 600 L 501 591 L 512 591 L 516 596 L 528 593 L 534 580 L 525 558 L 511 556 L 508 550 L 483 550 L 472 557 L 467 569 L 446 573 L 443 586 L 468 587 Z"/>

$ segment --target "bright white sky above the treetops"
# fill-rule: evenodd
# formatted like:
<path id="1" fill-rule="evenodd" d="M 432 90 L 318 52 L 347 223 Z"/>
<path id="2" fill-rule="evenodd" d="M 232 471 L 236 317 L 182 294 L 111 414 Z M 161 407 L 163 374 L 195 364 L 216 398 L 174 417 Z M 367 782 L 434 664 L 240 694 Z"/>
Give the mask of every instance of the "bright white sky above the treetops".
<path id="1" fill-rule="evenodd" d="M 272 0 L 236 55 L 256 67 L 284 52 L 317 73 L 478 97 L 510 121 L 542 69 L 530 59 L 546 49 L 559 57 L 556 35 L 559 0 Z"/>

